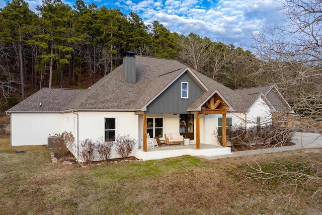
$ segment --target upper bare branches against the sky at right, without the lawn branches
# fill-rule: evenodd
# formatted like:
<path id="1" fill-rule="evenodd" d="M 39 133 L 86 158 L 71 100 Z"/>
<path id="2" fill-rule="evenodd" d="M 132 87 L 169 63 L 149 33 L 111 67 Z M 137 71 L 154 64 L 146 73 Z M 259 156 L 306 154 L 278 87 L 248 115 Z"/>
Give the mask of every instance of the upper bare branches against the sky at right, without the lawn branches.
<path id="1" fill-rule="evenodd" d="M 257 82 L 276 84 L 298 116 L 312 122 L 322 115 L 322 6 L 319 1 L 287 0 L 284 26 L 254 35 L 260 58 Z"/>

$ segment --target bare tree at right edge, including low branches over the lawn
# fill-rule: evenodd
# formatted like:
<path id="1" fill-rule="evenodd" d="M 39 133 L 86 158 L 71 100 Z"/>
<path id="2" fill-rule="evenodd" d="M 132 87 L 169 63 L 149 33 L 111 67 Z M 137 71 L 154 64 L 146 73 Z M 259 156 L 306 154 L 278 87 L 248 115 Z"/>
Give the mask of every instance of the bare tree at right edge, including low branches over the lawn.
<path id="1" fill-rule="evenodd" d="M 285 25 L 267 27 L 264 33 L 253 36 L 255 54 L 260 58 L 259 69 L 253 75 L 261 77 L 259 84 L 278 86 L 298 117 L 293 118 L 295 123 L 303 125 L 304 120 L 307 126 L 321 125 L 322 4 L 314 0 L 285 0 L 282 4 Z M 263 164 L 250 165 L 248 177 L 283 181 L 284 186 L 295 189 L 311 185 L 315 193 L 320 193 L 322 168 L 318 157 L 290 166 L 277 162 L 272 172 Z"/>

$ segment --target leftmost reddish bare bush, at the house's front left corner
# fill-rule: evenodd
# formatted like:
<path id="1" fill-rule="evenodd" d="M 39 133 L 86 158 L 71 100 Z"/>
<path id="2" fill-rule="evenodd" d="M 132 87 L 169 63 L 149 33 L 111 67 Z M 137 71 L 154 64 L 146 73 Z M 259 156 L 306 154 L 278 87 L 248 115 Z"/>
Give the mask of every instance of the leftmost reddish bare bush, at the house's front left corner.
<path id="1" fill-rule="evenodd" d="M 61 159 L 72 156 L 71 152 L 68 149 L 71 147 L 75 140 L 72 133 L 67 133 L 65 131 L 62 134 L 56 133 L 55 136 L 57 138 L 54 138 L 53 142 L 55 145 L 54 152 L 56 154 L 56 157 Z"/>

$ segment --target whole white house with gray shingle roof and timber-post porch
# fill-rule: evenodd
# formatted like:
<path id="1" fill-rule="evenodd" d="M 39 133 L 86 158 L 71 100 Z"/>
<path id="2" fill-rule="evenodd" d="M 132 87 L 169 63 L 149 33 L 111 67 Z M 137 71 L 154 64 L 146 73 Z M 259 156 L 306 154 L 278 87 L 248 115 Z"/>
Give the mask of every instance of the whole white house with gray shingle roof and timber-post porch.
<path id="1" fill-rule="evenodd" d="M 12 146 L 45 145 L 49 136 L 67 131 L 75 137 L 78 158 L 86 138 L 130 134 L 138 140 L 132 155 L 149 160 L 229 154 L 225 138 L 218 143 L 213 134 L 218 127 L 225 135 L 227 124 L 271 123 L 273 112 L 289 110 L 275 86 L 231 90 L 177 60 L 128 55 L 88 89 L 43 88 L 7 113 Z M 146 133 L 163 138 L 173 132 L 189 137 L 193 147 L 147 149 Z"/>

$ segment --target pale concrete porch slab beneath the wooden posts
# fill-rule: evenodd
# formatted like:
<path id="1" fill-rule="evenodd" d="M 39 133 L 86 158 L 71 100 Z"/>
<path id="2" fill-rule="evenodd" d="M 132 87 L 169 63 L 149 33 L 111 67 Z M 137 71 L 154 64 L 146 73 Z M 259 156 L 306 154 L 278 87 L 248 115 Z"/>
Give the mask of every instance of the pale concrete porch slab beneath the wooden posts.
<path id="1" fill-rule="evenodd" d="M 133 156 L 137 159 L 147 161 L 147 160 L 158 160 L 172 157 L 179 157 L 184 155 L 191 156 L 219 156 L 232 154 L 230 147 L 221 147 L 209 144 L 199 144 L 200 149 L 196 149 L 196 144 L 192 143 L 189 145 L 172 145 L 172 146 L 159 146 L 153 149 L 135 149 L 133 151 Z"/>

